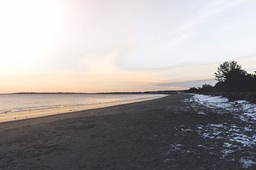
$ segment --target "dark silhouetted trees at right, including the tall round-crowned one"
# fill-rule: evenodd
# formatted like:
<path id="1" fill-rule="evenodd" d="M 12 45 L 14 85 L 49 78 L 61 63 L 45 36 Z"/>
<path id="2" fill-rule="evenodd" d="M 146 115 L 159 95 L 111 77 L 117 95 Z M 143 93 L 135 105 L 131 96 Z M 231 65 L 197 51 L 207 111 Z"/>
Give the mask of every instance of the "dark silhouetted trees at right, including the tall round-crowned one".
<path id="1" fill-rule="evenodd" d="M 256 71 L 254 71 L 256 73 Z M 192 87 L 185 92 L 210 93 L 232 99 L 245 99 L 256 103 L 256 74 L 247 73 L 236 61 L 226 61 L 220 64 L 215 73 L 218 82 L 212 86 Z"/>

